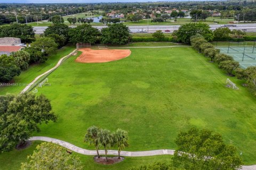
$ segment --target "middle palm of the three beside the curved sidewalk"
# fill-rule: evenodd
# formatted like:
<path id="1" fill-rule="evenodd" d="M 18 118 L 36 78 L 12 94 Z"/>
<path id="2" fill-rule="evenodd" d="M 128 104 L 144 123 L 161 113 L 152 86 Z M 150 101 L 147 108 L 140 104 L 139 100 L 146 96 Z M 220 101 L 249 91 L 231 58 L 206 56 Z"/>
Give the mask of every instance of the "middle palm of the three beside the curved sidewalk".
<path id="1" fill-rule="evenodd" d="M 113 134 L 107 129 L 102 129 L 99 131 L 98 135 L 100 144 L 104 147 L 106 160 L 108 162 L 107 149 L 109 149 L 113 145 Z"/>

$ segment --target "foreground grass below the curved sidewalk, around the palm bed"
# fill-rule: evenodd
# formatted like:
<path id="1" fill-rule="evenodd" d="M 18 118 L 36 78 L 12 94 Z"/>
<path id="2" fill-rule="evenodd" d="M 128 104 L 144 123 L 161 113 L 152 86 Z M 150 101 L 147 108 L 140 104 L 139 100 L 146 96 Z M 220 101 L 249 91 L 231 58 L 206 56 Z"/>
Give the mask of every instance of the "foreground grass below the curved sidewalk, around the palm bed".
<path id="1" fill-rule="evenodd" d="M 1 170 L 18 170 L 20 169 L 21 163 L 27 162 L 27 156 L 33 154 L 33 150 L 36 149 L 36 146 L 41 143 L 40 141 L 34 141 L 32 145 L 24 150 L 12 150 L 10 152 L 5 152 L 0 154 L 0 166 Z M 121 163 L 114 165 L 100 165 L 94 163 L 93 156 L 86 156 L 82 154 L 74 153 L 77 155 L 84 169 L 93 169 L 93 170 L 101 170 L 101 169 L 128 169 L 131 166 L 140 166 L 146 165 L 152 162 L 156 162 L 159 160 L 171 162 L 172 156 L 164 155 L 164 156 L 149 156 L 149 157 L 125 157 L 125 160 Z"/>

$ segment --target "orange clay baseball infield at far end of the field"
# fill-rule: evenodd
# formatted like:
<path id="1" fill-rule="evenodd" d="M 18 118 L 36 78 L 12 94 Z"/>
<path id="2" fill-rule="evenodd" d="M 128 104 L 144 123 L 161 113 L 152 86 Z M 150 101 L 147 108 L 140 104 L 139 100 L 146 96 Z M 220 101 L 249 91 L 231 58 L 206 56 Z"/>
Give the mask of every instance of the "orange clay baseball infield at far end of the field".
<path id="1" fill-rule="evenodd" d="M 81 48 L 83 52 L 76 58 L 78 63 L 105 63 L 121 60 L 131 54 L 130 49 L 90 49 Z"/>

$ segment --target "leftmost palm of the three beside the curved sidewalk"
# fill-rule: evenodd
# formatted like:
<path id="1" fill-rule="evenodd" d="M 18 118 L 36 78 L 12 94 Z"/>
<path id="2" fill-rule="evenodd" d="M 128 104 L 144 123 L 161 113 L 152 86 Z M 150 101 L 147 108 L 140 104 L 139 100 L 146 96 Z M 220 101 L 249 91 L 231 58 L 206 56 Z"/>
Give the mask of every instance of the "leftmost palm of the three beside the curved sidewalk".
<path id="1" fill-rule="evenodd" d="M 91 146 L 94 145 L 95 149 L 97 150 L 98 158 L 100 158 L 99 155 L 99 147 L 100 147 L 100 141 L 99 141 L 99 131 L 100 129 L 97 126 L 91 126 L 87 129 L 84 141 L 89 143 Z"/>

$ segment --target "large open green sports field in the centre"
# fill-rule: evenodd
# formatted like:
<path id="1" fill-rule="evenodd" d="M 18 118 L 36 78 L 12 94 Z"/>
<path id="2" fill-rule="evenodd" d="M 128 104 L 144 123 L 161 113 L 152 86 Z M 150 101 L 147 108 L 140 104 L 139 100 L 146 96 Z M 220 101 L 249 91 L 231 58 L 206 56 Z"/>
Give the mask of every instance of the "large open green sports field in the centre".
<path id="1" fill-rule="evenodd" d="M 42 135 L 79 147 L 91 125 L 129 132 L 126 150 L 175 149 L 180 130 L 192 126 L 222 134 L 255 163 L 255 99 L 241 86 L 225 87 L 227 76 L 190 47 L 136 48 L 109 63 L 83 64 L 69 58 L 38 90 L 51 99 L 57 123 L 41 125 Z"/>

